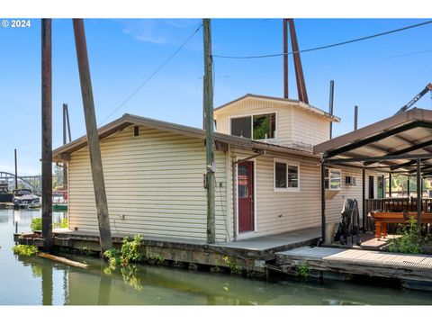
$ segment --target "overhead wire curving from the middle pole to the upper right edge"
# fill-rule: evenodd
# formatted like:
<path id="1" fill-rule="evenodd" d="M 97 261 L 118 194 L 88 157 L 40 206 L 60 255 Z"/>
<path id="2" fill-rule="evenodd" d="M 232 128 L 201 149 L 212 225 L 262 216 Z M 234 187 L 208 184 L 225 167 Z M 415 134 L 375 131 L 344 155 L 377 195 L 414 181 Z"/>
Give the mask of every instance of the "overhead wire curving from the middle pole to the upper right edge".
<path id="1" fill-rule="evenodd" d="M 275 53 L 275 54 L 266 54 L 266 55 L 253 55 L 253 56 L 228 56 L 228 55 L 213 55 L 213 58 L 234 58 L 234 59 L 250 59 L 250 58 L 275 58 L 275 57 L 280 57 L 283 55 L 293 55 L 295 53 L 305 53 L 305 52 L 311 52 L 314 50 L 320 50 L 320 49 L 330 49 L 333 47 L 337 47 L 337 46 L 342 46 L 342 45 L 347 45 L 350 43 L 354 43 L 357 41 L 362 41 L 362 40 L 370 40 L 370 39 L 374 39 L 376 37 L 381 37 L 384 35 L 388 35 L 388 34 L 392 34 L 394 32 L 399 32 L 399 31 L 406 31 L 412 28 L 417 28 L 420 26 L 424 26 L 428 23 L 432 23 L 432 20 L 429 20 L 427 22 L 423 22 L 423 23 L 416 23 L 416 24 L 412 24 L 410 26 L 405 26 L 405 27 L 401 27 L 392 31 L 383 31 L 380 33 L 376 33 L 374 35 L 369 35 L 369 36 L 365 36 L 365 37 L 360 37 L 360 38 L 356 38 L 354 40 L 345 40 L 345 41 L 341 41 L 338 43 L 334 43 L 334 44 L 329 44 L 329 45 L 324 45 L 324 46 L 320 46 L 320 47 L 315 47 L 315 48 L 311 48 L 311 49 L 301 49 L 301 50 L 296 50 L 296 51 L 292 51 L 292 52 L 288 52 L 288 53 Z"/>

